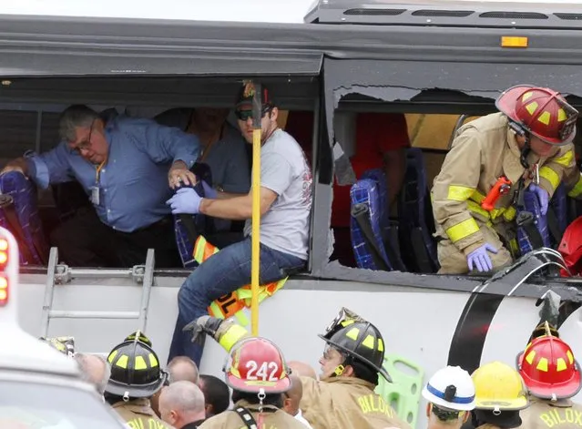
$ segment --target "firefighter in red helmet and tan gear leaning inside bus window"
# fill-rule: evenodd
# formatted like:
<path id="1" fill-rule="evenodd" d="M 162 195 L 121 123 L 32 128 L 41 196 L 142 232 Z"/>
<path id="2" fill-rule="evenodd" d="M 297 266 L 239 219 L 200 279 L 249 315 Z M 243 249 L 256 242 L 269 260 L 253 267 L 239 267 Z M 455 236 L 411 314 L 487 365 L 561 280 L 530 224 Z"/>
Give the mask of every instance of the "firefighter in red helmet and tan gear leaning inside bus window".
<path id="1" fill-rule="evenodd" d="M 432 189 L 439 273 L 491 271 L 519 254 L 516 206 L 532 192 L 546 214 L 564 182 L 582 194 L 574 146 L 578 112 L 555 91 L 511 87 L 497 98 L 500 113 L 459 128 Z"/>

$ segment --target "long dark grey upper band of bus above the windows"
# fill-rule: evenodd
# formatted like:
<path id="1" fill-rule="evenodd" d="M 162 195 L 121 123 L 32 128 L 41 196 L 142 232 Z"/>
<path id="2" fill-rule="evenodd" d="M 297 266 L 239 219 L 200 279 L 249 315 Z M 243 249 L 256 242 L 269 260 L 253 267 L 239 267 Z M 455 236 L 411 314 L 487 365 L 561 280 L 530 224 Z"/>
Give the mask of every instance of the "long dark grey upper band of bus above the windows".
<path id="1" fill-rule="evenodd" d="M 582 20 L 576 25 L 582 26 Z M 582 63 L 582 33 L 566 28 L 516 31 L 23 15 L 0 15 L 0 27 L 0 77 L 313 77 L 320 75 L 323 58 L 463 59 L 523 66 Z M 527 37 L 528 46 L 504 48 L 501 36 Z M 0 92 L 6 99 L 12 91 L 32 94 L 38 89 L 34 83 L 24 85 L 4 85 Z"/>

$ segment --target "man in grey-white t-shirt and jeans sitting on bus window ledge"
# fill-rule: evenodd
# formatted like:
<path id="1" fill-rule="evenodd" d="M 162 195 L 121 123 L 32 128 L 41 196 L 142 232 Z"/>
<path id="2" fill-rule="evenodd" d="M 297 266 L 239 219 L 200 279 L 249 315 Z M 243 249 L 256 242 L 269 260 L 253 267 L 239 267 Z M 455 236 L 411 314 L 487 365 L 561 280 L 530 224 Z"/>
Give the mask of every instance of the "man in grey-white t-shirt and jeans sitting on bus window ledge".
<path id="1" fill-rule="evenodd" d="M 252 143 L 252 98 L 254 86 L 245 84 L 235 113 L 242 136 Z M 279 281 L 286 271 L 301 269 L 308 258 L 312 178 L 301 147 L 277 125 L 279 109 L 266 87 L 262 87 L 260 149 L 260 284 Z M 192 188 L 182 188 L 168 199 L 173 214 L 203 213 L 246 220 L 245 240 L 212 255 L 193 271 L 178 294 L 179 316 L 168 360 L 189 356 L 197 365 L 203 345 L 191 342 L 183 328 L 208 314 L 209 304 L 250 283 L 250 219 L 252 189 L 247 195 L 219 192 L 202 183 L 207 198 Z"/>

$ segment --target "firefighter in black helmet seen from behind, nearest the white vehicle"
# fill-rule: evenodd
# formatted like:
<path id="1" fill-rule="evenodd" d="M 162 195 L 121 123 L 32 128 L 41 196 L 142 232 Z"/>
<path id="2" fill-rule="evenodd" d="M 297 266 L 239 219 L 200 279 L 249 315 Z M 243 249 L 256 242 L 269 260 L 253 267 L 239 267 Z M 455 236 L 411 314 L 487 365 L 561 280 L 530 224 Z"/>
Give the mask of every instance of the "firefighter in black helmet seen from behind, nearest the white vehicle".
<path id="1" fill-rule="evenodd" d="M 131 429 L 172 429 L 162 422 L 149 405 L 149 398 L 162 388 L 167 374 L 148 337 L 136 332 L 109 352 L 111 377 L 105 400 Z"/>

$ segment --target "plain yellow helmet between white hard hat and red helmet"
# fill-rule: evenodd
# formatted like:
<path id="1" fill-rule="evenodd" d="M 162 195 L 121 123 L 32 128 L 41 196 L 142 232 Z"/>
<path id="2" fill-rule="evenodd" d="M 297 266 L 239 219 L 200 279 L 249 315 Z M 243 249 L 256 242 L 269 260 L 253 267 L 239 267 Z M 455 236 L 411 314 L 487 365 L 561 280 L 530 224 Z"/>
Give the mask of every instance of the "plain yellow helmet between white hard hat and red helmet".
<path id="1" fill-rule="evenodd" d="M 471 375 L 475 383 L 477 410 L 516 411 L 529 405 L 521 375 L 498 361 L 481 365 Z"/>

